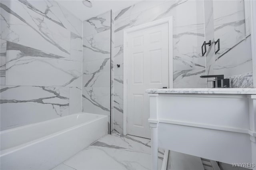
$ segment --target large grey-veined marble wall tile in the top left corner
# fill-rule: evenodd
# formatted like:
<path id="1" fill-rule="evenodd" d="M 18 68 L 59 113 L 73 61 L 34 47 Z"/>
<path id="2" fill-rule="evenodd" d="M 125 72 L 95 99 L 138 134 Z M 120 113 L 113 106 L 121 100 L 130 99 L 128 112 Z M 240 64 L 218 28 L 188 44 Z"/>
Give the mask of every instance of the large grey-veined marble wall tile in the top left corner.
<path id="1" fill-rule="evenodd" d="M 70 31 L 31 10 L 22 2 L 24 1 L 1 1 L 1 38 L 69 57 Z"/>

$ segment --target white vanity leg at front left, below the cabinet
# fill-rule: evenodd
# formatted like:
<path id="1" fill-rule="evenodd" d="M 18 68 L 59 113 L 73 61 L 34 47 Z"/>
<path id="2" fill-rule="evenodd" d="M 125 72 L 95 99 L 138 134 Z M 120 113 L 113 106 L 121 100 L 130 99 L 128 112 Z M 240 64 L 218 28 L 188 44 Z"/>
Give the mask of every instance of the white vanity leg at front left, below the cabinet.
<path id="1" fill-rule="evenodd" d="M 158 124 L 150 123 L 152 170 L 158 169 Z"/>

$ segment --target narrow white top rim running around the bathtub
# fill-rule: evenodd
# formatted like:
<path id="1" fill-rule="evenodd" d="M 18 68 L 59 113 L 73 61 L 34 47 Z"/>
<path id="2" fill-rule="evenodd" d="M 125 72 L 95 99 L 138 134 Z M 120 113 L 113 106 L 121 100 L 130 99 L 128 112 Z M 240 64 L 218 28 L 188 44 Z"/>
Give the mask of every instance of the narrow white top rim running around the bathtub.
<path id="1" fill-rule="evenodd" d="M 98 115 L 98 114 L 94 114 L 94 113 L 80 112 L 80 113 L 75 113 L 75 114 L 68 115 L 68 116 L 64 116 L 64 117 L 60 117 L 60 118 L 54 118 L 54 119 L 50 119 L 50 120 L 47 120 L 47 121 L 42 121 L 42 122 L 38 122 L 38 123 L 33 123 L 33 124 L 29 124 L 29 125 L 24 125 L 24 126 L 21 126 L 21 127 L 16 127 L 16 128 L 12 128 L 12 129 L 3 130 L 3 131 L 1 131 L 1 132 L 4 132 L 4 131 L 9 132 L 9 131 L 12 131 L 12 130 L 15 130 L 15 129 L 18 129 L 18 128 L 30 127 L 30 126 L 33 126 L 33 125 L 38 125 L 38 124 L 43 123 L 43 122 L 50 122 L 50 121 L 54 121 L 55 119 L 63 119 L 63 118 L 66 118 L 66 117 L 70 117 L 70 116 L 74 116 L 74 115 L 81 115 L 81 114 Z M 65 133 L 65 132 L 74 130 L 74 129 L 76 129 L 76 128 L 80 128 L 80 127 L 82 127 L 82 126 L 84 126 L 84 125 L 87 125 L 87 124 L 89 124 L 89 123 L 98 121 L 98 120 L 100 120 L 100 119 L 106 118 L 106 120 L 108 121 L 108 116 L 106 116 L 106 115 L 98 115 L 98 116 L 99 116 L 99 117 L 97 117 L 97 118 L 95 118 L 95 119 L 92 119 L 92 120 L 90 120 L 90 121 L 86 121 L 86 122 L 84 122 L 84 123 L 80 123 L 80 124 L 78 124 L 78 125 L 75 125 L 75 126 L 72 126 L 72 127 L 69 127 L 69 128 L 65 128 L 65 129 L 60 130 L 60 131 L 58 131 L 58 132 L 55 132 L 55 133 L 52 133 L 52 134 L 48 134 L 48 135 L 43 136 L 43 137 L 41 137 L 41 138 L 37 138 L 37 139 L 35 139 L 35 140 L 31 140 L 31 141 L 29 141 L 29 142 L 26 142 L 26 143 L 23 143 L 23 144 L 20 144 L 20 145 L 17 145 L 17 146 L 8 148 L 8 149 L 0 150 L 0 158 L 1 158 L 2 156 L 5 156 L 5 155 L 10 154 L 10 153 L 12 153 L 12 152 L 16 152 L 16 151 L 18 151 L 18 150 L 21 150 L 21 149 L 26 148 L 26 147 L 28 147 L 28 146 L 31 146 L 31 145 L 33 145 L 33 144 L 37 144 L 37 143 L 39 143 L 39 142 L 42 142 L 42 141 L 47 140 L 47 139 L 49 139 L 49 138 L 58 136 L 58 135 L 63 134 L 63 133 Z M 106 123 L 106 125 L 108 126 L 108 123 Z M 107 129 L 108 129 L 108 127 L 107 127 Z"/>

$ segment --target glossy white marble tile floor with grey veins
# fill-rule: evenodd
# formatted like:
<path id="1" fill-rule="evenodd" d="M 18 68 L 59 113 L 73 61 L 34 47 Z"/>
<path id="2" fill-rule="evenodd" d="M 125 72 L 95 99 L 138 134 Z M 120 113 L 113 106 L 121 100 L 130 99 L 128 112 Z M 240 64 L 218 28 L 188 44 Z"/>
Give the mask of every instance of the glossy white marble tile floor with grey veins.
<path id="1" fill-rule="evenodd" d="M 161 169 L 164 150 L 158 151 Z M 107 134 L 53 170 L 150 170 L 150 140 Z"/>

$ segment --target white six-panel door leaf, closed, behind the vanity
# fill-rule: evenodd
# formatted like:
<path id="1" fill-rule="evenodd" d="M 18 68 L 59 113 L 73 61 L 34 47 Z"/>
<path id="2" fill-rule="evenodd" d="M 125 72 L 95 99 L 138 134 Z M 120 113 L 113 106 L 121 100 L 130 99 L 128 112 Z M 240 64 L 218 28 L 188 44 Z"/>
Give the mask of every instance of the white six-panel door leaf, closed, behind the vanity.
<path id="1" fill-rule="evenodd" d="M 146 89 L 169 88 L 168 23 L 127 34 L 128 134 L 150 138 Z"/>

